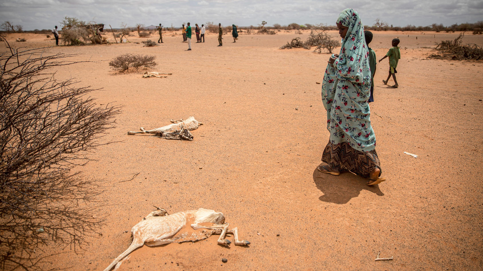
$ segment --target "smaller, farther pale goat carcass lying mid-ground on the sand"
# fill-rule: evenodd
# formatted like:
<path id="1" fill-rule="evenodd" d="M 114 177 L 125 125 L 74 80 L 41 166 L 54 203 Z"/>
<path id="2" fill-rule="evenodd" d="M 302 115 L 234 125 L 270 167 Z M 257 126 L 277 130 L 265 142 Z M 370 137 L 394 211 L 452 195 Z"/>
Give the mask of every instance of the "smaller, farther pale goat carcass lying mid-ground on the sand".
<path id="1" fill-rule="evenodd" d="M 128 135 L 134 134 L 155 134 L 166 139 L 182 139 L 193 141 L 193 135 L 189 131 L 193 131 L 203 125 L 203 123 L 195 120 L 194 117 L 189 117 L 185 121 L 183 119 L 179 121 L 170 120 L 173 124 L 159 127 L 153 130 L 146 131 L 141 127 L 141 132 L 129 131 Z"/>

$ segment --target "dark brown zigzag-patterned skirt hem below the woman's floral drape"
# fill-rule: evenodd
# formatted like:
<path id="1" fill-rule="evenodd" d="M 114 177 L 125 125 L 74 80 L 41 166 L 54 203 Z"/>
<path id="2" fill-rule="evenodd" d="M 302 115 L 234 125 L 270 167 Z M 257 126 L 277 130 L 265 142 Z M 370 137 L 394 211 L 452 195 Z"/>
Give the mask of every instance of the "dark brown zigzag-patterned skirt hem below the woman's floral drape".
<path id="1" fill-rule="evenodd" d="M 376 168 L 381 170 L 381 163 L 375 149 L 360 151 L 351 148 L 349 143 L 328 143 L 322 153 L 322 162 L 329 165 L 331 171 L 351 171 L 368 178 L 369 173 Z M 383 171 L 381 170 L 379 176 Z"/>

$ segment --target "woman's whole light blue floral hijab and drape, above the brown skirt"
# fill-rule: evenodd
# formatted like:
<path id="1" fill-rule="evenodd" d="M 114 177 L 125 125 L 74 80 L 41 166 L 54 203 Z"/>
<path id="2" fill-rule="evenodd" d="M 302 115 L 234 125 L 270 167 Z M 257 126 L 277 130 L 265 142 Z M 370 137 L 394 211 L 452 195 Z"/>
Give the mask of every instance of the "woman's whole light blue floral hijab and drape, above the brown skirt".
<path id="1" fill-rule="evenodd" d="M 322 83 L 329 142 L 347 142 L 353 149 L 371 151 L 375 149 L 376 137 L 367 102 L 371 82 L 364 27 L 353 9 L 343 10 L 337 23 L 349 29 L 342 39 L 339 57 L 333 65 L 327 65 Z"/>

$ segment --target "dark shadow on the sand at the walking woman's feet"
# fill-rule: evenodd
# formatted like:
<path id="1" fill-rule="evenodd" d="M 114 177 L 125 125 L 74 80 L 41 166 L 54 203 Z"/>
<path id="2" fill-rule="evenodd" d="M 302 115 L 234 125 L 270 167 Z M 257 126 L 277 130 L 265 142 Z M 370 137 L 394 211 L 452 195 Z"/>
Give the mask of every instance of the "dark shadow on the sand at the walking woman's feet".
<path id="1" fill-rule="evenodd" d="M 384 196 L 384 193 L 379 190 L 379 185 L 368 186 L 366 181 L 366 178 L 357 176 L 352 172 L 343 172 L 339 176 L 333 176 L 322 173 L 317 168 L 313 171 L 313 182 L 324 193 L 319 197 L 319 200 L 327 203 L 348 203 L 352 198 L 359 196 L 362 190 Z"/>

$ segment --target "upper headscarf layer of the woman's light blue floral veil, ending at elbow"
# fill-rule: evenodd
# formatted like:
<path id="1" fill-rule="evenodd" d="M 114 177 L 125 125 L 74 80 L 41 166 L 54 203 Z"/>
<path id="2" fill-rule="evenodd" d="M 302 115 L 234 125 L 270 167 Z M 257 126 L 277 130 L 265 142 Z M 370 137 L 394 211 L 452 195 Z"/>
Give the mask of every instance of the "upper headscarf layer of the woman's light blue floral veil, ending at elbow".
<path id="1" fill-rule="evenodd" d="M 342 40 L 339 58 L 334 62 L 339 76 L 357 83 L 370 81 L 369 51 L 359 14 L 353 9 L 345 9 L 339 14 L 337 23 L 349 27 Z"/>

